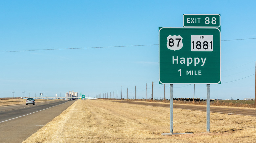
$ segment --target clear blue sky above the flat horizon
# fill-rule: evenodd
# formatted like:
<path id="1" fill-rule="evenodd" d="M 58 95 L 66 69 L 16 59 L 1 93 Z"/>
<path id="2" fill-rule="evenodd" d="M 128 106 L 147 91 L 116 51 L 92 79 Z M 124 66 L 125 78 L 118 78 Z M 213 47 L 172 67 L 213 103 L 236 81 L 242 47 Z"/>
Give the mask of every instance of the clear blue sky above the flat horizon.
<path id="1" fill-rule="evenodd" d="M 154 82 L 154 98 L 163 98 L 158 27 L 182 27 L 183 14 L 221 14 L 222 84 L 210 86 L 210 98 L 254 98 L 255 6 L 252 0 L 0 1 L 0 97 L 74 90 L 120 98 L 122 86 L 124 98 L 127 88 L 135 98 L 136 86 L 137 98 L 146 98 L 147 84 L 149 98 Z M 19 50 L 41 51 L 9 52 Z M 193 85 L 174 85 L 174 97 L 193 97 Z M 206 85 L 195 85 L 195 97 L 206 98 Z"/>

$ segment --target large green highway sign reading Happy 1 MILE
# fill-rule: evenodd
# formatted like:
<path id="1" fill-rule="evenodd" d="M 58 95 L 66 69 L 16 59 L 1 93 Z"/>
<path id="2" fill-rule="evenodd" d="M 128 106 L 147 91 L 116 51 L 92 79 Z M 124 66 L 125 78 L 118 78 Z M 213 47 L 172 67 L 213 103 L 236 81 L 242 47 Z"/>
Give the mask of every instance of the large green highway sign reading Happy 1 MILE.
<path id="1" fill-rule="evenodd" d="M 218 28 L 160 28 L 161 84 L 219 84 L 221 34 Z"/>

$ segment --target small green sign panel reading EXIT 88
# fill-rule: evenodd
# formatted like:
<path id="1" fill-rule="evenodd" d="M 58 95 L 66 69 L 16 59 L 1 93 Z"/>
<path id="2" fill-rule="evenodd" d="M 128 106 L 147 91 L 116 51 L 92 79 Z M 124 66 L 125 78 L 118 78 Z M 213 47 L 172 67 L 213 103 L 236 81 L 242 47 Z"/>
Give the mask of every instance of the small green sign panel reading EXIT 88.
<path id="1" fill-rule="evenodd" d="M 183 14 L 183 27 L 220 27 L 220 14 Z"/>

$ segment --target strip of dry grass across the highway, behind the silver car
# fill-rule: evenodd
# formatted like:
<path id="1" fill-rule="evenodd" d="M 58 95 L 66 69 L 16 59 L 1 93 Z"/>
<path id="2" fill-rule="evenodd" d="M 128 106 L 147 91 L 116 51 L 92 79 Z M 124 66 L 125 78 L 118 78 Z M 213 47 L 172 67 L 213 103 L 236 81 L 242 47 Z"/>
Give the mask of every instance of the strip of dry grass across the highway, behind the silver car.
<path id="1" fill-rule="evenodd" d="M 45 101 L 49 101 L 49 100 L 36 99 L 35 103 L 45 102 Z M 3 99 L 0 100 L 0 106 L 18 105 L 18 104 L 26 104 L 26 99 L 22 99 L 22 98 L 15 98 L 15 99 L 13 99 L 13 98 L 10 98 L 10 99 L 5 99 L 5 100 L 3 100 Z"/>

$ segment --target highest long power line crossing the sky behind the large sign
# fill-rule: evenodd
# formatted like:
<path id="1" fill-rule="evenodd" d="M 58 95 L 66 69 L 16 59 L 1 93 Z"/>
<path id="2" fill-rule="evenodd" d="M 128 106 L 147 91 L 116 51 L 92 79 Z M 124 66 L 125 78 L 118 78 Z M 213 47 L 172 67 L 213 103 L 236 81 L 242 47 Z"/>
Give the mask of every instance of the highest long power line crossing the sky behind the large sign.
<path id="1" fill-rule="evenodd" d="M 248 38 L 248 39 L 234 39 L 234 40 L 249 40 L 256 38 Z M 233 41 L 233 40 L 221 40 L 221 41 Z M 128 45 L 128 46 L 109 46 L 109 47 L 86 47 L 86 48 L 56 48 L 56 49 L 35 49 L 35 50 L 16 50 L 16 51 L 2 51 L 0 53 L 7 52 L 28 52 L 28 51 L 46 51 L 46 50 L 70 50 L 70 49 L 93 49 L 93 48 L 116 48 L 116 47 L 135 47 L 135 46 L 155 46 L 158 44 L 149 44 L 149 45 Z"/>

